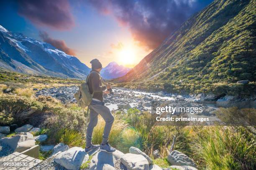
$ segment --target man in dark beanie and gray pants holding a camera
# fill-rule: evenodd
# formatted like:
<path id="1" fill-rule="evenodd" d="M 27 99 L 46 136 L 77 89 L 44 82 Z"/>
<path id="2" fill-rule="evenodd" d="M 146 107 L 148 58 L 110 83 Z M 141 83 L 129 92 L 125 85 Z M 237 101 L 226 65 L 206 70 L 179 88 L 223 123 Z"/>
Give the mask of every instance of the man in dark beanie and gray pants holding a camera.
<path id="1" fill-rule="evenodd" d="M 88 86 L 90 93 L 93 94 L 92 102 L 89 106 L 90 108 L 90 122 L 88 124 L 87 133 L 86 133 L 86 148 L 85 152 L 95 150 L 100 148 L 100 150 L 105 152 L 114 152 L 115 148 L 111 147 L 108 144 L 108 136 L 114 122 L 114 117 L 111 114 L 108 107 L 104 105 L 103 94 L 110 93 L 110 85 L 102 85 L 103 81 L 100 76 L 100 70 L 102 65 L 99 60 L 94 59 L 90 62 L 92 64 L 92 71 L 88 77 Z M 102 143 L 100 145 L 92 144 L 92 132 L 93 128 L 97 125 L 98 115 L 101 115 L 105 120 L 105 128 L 102 136 Z"/>

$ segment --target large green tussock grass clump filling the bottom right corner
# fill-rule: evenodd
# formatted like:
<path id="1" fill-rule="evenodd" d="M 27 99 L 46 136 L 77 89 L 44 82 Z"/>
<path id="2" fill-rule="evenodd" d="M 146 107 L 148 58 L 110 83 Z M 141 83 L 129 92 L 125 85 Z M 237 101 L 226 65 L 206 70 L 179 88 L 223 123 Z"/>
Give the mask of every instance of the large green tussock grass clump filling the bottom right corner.
<path id="1" fill-rule="evenodd" d="M 205 128 L 192 150 L 201 169 L 249 170 L 255 168 L 256 138 L 244 127 Z"/>

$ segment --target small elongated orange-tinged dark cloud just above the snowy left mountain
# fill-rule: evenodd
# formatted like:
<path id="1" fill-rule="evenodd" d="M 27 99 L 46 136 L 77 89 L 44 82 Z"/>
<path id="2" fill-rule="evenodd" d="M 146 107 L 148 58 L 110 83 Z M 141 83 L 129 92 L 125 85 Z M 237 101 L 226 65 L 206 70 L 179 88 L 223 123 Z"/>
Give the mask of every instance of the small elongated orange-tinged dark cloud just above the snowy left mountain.
<path id="1" fill-rule="evenodd" d="M 54 47 L 56 47 L 57 49 L 66 52 L 66 54 L 68 54 L 68 55 L 75 55 L 74 50 L 72 50 L 71 48 L 67 47 L 67 44 L 66 44 L 66 42 L 64 40 L 55 40 L 55 39 L 49 37 L 47 32 L 44 32 L 44 31 L 40 31 L 39 32 L 39 36 L 42 38 L 42 40 L 44 42 L 47 42 L 47 43 L 53 45 Z"/>

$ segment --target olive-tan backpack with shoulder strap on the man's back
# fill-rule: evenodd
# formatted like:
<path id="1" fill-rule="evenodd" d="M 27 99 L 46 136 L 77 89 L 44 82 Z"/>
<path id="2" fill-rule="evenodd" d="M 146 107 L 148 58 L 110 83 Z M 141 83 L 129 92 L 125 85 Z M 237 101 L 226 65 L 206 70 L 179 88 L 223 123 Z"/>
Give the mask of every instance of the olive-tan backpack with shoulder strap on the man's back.
<path id="1" fill-rule="evenodd" d="M 92 71 L 92 72 L 96 72 L 96 71 Z M 89 106 L 92 102 L 92 96 L 94 92 L 92 92 L 92 94 L 90 93 L 89 86 L 87 83 L 89 76 L 92 74 L 92 72 L 87 76 L 86 82 L 83 82 L 80 85 L 78 91 L 74 94 L 74 97 L 77 100 L 78 106 L 82 108 Z"/>

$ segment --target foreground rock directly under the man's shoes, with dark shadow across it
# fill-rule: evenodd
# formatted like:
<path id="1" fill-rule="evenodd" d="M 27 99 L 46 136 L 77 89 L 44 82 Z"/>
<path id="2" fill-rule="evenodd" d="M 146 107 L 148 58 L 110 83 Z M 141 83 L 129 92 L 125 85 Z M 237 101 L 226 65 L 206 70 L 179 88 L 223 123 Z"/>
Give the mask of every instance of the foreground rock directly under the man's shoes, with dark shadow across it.
<path id="1" fill-rule="evenodd" d="M 113 153 L 96 151 L 96 154 L 92 157 L 90 162 L 90 170 L 100 170 L 100 167 L 106 164 L 114 167 L 115 161 L 120 159 L 123 155 L 124 154 L 119 150 L 115 150 Z"/>

